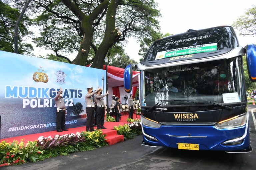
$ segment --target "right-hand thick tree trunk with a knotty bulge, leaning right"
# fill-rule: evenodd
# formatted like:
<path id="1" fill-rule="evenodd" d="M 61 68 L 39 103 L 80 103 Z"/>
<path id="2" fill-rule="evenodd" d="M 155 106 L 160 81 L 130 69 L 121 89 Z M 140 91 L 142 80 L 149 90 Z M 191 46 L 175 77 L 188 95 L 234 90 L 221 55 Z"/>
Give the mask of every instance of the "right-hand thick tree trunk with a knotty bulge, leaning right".
<path id="1" fill-rule="evenodd" d="M 103 68 L 104 58 L 107 55 L 108 50 L 117 42 L 121 33 L 115 28 L 116 10 L 120 3 L 120 0 L 112 0 L 108 7 L 106 15 L 106 29 L 104 38 L 94 56 L 94 61 L 91 65 L 93 68 Z"/>

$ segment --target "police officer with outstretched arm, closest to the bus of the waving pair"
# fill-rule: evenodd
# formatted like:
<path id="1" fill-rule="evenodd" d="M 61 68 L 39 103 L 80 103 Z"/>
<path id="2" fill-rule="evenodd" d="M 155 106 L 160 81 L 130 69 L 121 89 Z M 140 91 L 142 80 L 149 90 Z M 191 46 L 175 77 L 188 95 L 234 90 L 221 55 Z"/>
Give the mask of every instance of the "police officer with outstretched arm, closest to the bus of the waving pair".
<path id="1" fill-rule="evenodd" d="M 106 94 L 101 95 L 102 94 L 102 89 L 100 88 L 97 91 L 97 94 L 94 95 L 95 98 L 95 102 L 97 103 L 97 129 L 106 129 L 103 125 L 104 125 L 104 115 L 105 115 L 105 105 L 103 103 L 103 97 L 107 96 L 109 94 L 109 92 L 107 91 Z"/>

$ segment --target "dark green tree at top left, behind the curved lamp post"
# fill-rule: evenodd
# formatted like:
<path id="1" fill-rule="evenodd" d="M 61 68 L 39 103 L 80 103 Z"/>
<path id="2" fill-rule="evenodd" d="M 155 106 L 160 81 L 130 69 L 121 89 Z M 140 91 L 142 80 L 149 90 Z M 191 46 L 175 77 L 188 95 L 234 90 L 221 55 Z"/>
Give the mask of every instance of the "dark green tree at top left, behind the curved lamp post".
<path id="1" fill-rule="evenodd" d="M 17 9 L 10 7 L 8 4 L 0 0 L 0 50 L 14 52 L 14 25 L 20 13 Z M 28 37 L 30 32 L 27 27 L 31 25 L 29 18 L 24 18 L 19 24 L 18 35 L 18 53 L 31 54 L 33 47 L 31 44 L 22 43 L 21 38 Z"/>

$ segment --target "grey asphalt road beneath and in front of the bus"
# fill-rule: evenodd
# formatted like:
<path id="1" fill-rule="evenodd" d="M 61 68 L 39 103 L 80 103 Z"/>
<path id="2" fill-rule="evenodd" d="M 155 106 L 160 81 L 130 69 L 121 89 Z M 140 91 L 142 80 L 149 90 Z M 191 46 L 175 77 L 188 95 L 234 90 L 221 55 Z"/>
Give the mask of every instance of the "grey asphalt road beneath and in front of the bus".
<path id="1" fill-rule="evenodd" d="M 251 153 L 189 151 L 141 145 L 142 136 L 93 151 L 58 156 L 36 163 L 1 167 L 3 170 L 254 170 L 256 169 L 256 131 L 249 106 Z"/>

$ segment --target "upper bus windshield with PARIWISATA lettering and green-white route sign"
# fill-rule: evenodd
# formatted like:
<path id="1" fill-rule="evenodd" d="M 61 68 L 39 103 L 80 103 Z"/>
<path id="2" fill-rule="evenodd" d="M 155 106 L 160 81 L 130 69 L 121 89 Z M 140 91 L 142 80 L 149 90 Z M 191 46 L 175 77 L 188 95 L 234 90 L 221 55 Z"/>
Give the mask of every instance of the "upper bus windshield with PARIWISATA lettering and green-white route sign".
<path id="1" fill-rule="evenodd" d="M 144 61 L 211 52 L 238 46 L 238 40 L 232 27 L 222 26 L 203 30 L 190 29 L 186 33 L 168 36 L 155 41 L 146 53 Z"/>

